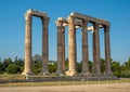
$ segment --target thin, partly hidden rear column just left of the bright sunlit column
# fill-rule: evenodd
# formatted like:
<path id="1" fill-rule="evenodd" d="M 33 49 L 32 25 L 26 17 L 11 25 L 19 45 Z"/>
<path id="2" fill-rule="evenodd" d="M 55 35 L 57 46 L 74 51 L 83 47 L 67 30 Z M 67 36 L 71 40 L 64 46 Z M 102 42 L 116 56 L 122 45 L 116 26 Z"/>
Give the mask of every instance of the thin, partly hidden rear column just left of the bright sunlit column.
<path id="1" fill-rule="evenodd" d="M 65 27 L 62 27 L 63 71 L 65 71 Z"/>

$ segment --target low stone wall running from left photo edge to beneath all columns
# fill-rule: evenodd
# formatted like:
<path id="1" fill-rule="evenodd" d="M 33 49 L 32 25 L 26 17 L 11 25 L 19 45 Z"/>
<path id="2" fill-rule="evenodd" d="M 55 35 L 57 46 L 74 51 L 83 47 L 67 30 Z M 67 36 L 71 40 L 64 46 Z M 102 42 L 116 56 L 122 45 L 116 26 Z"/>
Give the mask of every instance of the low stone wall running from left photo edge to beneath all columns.
<path id="1" fill-rule="evenodd" d="M 28 76 L 25 79 L 10 79 L 10 80 L 0 80 L 0 83 L 6 82 L 47 82 L 47 81 L 96 81 L 96 80 L 117 80 L 115 76 L 112 77 L 42 77 L 42 76 Z"/>

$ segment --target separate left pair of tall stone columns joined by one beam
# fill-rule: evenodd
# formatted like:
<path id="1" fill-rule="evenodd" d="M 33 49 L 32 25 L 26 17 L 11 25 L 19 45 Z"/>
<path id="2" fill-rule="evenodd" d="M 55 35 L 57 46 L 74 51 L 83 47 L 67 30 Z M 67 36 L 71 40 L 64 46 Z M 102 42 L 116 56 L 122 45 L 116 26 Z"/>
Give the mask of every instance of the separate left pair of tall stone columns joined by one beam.
<path id="1" fill-rule="evenodd" d="M 39 11 L 28 10 L 25 13 L 25 65 L 23 75 L 32 75 L 31 70 L 31 23 L 32 16 L 40 17 L 42 23 L 42 69 L 41 74 L 49 74 L 48 70 L 48 25 L 49 25 L 49 17 L 47 13 L 41 13 Z"/>

